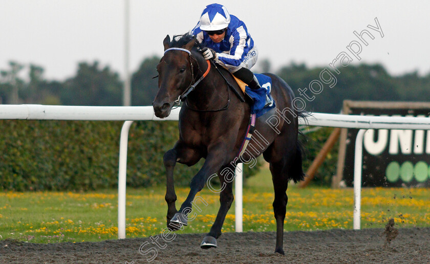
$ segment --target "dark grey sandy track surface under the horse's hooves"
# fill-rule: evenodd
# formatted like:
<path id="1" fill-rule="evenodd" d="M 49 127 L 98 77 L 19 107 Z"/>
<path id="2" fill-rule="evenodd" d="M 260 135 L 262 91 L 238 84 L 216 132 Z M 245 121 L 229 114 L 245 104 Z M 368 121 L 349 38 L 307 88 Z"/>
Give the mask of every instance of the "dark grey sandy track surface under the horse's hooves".
<path id="1" fill-rule="evenodd" d="M 285 256 L 273 253 L 274 232 L 224 233 L 218 249 L 210 250 L 199 247 L 204 234 L 182 234 L 158 249 L 151 263 L 430 263 L 430 228 L 398 231 L 386 247 L 384 229 L 285 232 Z M 58 244 L 2 240 L 0 263 L 148 263 L 151 254 L 139 253 L 146 241 L 150 238 Z"/>

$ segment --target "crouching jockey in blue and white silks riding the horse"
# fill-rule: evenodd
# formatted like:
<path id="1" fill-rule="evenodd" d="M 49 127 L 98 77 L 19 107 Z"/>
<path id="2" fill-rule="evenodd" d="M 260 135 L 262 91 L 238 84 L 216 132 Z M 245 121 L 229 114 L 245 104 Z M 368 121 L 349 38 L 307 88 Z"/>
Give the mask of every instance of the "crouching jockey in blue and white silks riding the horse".
<path id="1" fill-rule="evenodd" d="M 206 48 L 205 59 L 213 59 L 227 68 L 250 89 L 261 88 L 257 78 L 249 70 L 257 61 L 259 52 L 248 33 L 245 23 L 220 4 L 206 6 L 199 23 L 190 31 Z M 271 103 L 267 97 L 267 103 Z"/>

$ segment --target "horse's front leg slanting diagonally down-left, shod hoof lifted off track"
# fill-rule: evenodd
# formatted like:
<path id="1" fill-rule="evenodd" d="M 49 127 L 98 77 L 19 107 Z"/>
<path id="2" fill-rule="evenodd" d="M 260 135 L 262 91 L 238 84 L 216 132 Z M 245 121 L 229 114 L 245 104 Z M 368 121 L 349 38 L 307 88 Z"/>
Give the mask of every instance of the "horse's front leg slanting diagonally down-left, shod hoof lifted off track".
<path id="1" fill-rule="evenodd" d="M 209 149 L 205 163 L 199 172 L 192 178 L 190 182 L 190 190 L 181 209 L 171 219 L 171 222 L 179 226 L 187 225 L 187 215 L 191 211 L 191 203 L 196 197 L 196 194 L 203 189 L 210 175 L 216 174 L 218 170 L 225 164 L 226 149 L 224 144 L 213 146 Z"/>

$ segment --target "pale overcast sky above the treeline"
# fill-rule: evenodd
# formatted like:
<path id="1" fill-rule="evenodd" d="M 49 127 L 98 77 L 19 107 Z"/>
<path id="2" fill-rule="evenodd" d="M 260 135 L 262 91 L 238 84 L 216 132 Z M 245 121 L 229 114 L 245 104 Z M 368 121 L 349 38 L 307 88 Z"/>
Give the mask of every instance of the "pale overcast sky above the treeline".
<path id="1" fill-rule="evenodd" d="M 130 68 L 152 55 L 162 56 L 167 34 L 193 28 L 205 1 L 131 0 Z M 305 62 L 328 67 L 349 52 L 354 31 L 367 29 L 360 61 L 380 62 L 395 75 L 430 72 L 430 1 L 218 1 L 245 22 L 259 60 L 274 70 Z M 381 34 L 376 27 L 379 21 Z M 48 79 L 72 77 L 79 61 L 99 60 L 124 72 L 123 0 L 0 0 L 0 69 L 8 61 L 34 63 Z M 357 46 L 354 48 L 358 48 Z M 351 55 L 352 56 L 352 55 Z M 359 60 L 352 56 L 354 62 Z M 254 66 L 259 69 L 259 62 Z"/>

